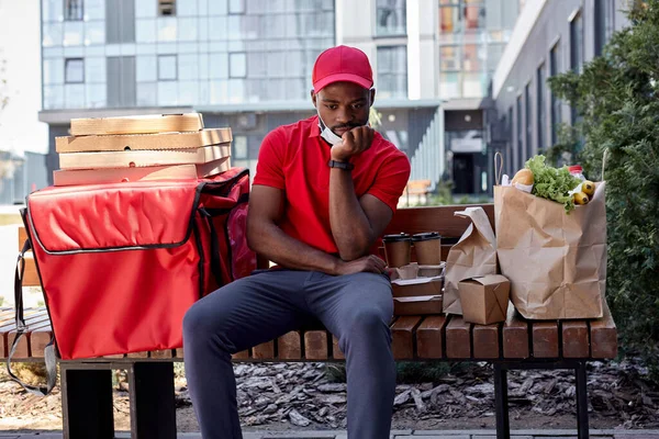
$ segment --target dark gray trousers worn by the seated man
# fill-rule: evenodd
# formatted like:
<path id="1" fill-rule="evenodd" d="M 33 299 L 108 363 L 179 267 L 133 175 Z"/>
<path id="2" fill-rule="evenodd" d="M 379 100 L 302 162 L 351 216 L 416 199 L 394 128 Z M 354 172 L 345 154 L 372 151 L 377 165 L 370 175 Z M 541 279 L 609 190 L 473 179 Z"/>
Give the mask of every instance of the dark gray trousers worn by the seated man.
<path id="1" fill-rule="evenodd" d="M 186 374 L 202 437 L 242 438 L 231 354 L 317 319 L 346 356 L 348 437 L 389 438 L 392 314 L 391 284 L 373 273 L 266 271 L 203 297 L 183 319 Z"/>

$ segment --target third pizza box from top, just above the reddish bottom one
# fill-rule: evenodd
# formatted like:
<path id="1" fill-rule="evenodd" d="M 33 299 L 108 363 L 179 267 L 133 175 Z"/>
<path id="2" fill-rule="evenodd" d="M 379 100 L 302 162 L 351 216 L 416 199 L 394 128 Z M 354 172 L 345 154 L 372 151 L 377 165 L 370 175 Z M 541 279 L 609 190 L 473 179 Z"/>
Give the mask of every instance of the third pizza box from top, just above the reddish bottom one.
<path id="1" fill-rule="evenodd" d="M 60 169 L 138 168 L 143 166 L 201 165 L 231 156 L 231 144 L 194 149 L 67 153 L 59 155 Z"/>

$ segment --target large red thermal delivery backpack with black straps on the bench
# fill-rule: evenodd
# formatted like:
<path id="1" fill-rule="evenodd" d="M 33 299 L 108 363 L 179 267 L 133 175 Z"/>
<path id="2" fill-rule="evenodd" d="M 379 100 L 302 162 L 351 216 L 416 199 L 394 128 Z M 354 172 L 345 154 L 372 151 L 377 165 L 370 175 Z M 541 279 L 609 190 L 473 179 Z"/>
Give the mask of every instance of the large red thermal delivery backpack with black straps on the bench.
<path id="1" fill-rule="evenodd" d="M 180 348 L 188 308 L 256 268 L 245 234 L 248 198 L 249 171 L 243 168 L 199 180 L 51 187 L 30 194 L 22 211 L 29 238 L 16 264 L 12 353 L 27 329 L 21 278 L 30 248 L 60 359 Z M 54 371 L 53 341 L 45 358 Z"/>

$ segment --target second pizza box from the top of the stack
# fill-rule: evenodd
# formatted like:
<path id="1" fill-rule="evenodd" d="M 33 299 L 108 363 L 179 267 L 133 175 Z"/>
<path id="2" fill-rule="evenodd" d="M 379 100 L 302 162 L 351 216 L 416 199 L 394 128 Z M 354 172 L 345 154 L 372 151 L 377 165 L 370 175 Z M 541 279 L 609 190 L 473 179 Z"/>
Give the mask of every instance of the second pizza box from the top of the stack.
<path id="1" fill-rule="evenodd" d="M 191 133 L 55 137 L 55 149 L 57 153 L 187 149 L 226 144 L 232 140 L 231 128 L 208 128 Z"/>

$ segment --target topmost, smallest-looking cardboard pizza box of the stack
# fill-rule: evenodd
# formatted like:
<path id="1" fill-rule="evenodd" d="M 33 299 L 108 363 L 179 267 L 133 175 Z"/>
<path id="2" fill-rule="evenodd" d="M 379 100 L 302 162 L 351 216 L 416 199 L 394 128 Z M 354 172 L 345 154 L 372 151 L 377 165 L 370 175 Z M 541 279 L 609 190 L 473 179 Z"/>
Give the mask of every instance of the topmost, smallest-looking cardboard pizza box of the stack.
<path id="1" fill-rule="evenodd" d="M 201 113 L 71 119 L 71 135 L 148 134 L 203 130 Z"/>

